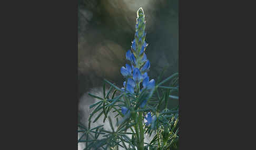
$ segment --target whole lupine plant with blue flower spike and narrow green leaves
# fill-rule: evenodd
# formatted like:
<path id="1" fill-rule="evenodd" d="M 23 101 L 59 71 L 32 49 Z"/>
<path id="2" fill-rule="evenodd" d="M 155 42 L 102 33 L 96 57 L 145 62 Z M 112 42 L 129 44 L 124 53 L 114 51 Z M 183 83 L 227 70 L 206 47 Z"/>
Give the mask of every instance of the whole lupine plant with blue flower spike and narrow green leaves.
<path id="1" fill-rule="evenodd" d="M 78 124 L 78 132 L 83 133 L 78 143 L 85 143 L 85 149 L 178 149 L 178 106 L 168 109 L 168 101 L 179 99 L 178 73 L 161 81 L 163 71 L 157 79 L 150 80 L 147 76 L 150 61 L 145 54 L 148 44 L 142 8 L 137 10 L 135 31 L 131 49 L 125 56 L 131 65 L 126 63 L 121 68 L 125 79 L 123 87 L 104 80 L 103 98 L 89 93 L 100 101 L 90 105 L 94 110 L 88 119 L 88 127 Z M 110 85 L 107 92 L 106 83 Z M 100 113 L 92 120 L 96 112 Z M 112 122 L 111 113 L 117 113 L 114 116 L 116 124 Z M 103 123 L 109 120 L 112 131 L 106 131 L 103 125 L 91 128 L 91 123 L 102 115 Z M 151 142 L 146 143 L 144 135 L 153 136 Z"/>

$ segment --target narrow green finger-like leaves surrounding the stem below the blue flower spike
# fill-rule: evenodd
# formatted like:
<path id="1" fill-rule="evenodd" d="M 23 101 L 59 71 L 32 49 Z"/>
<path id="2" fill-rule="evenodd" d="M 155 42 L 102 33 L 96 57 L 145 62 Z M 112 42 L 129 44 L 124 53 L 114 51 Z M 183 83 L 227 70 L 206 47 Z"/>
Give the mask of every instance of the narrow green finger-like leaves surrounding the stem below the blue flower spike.
<path id="1" fill-rule="evenodd" d="M 89 106 L 90 109 L 94 108 L 89 117 L 89 127 L 86 128 L 84 125 L 78 124 L 78 128 L 80 128 L 78 133 L 83 133 L 78 140 L 78 143 L 85 143 L 85 149 L 117 149 L 119 146 L 125 149 L 135 149 L 135 147 L 138 146 L 136 143 L 137 137 L 140 137 L 140 135 L 138 135 L 136 132 L 136 117 L 139 112 L 141 112 L 143 115 L 145 115 L 147 112 L 152 112 L 156 115 L 156 121 L 150 126 L 146 126 L 144 124 L 143 129 L 144 134 L 153 136 L 153 138 L 150 143 L 144 143 L 144 149 L 170 149 L 171 147 L 178 149 L 179 109 L 177 106 L 176 108 L 169 110 L 167 106 L 167 102 L 171 101 L 173 97 L 178 98 L 178 96 L 171 95 L 173 91 L 178 91 L 178 74 L 170 77 L 166 78 L 163 80 L 164 82 L 160 82 L 155 86 L 152 97 L 149 98 L 146 108 L 140 109 L 139 107 L 135 107 L 136 110 L 131 113 L 135 115 L 135 120 L 133 120 L 131 115 L 123 115 L 120 110 L 120 106 L 129 102 L 137 105 L 145 97 L 145 91 L 141 92 L 138 97 L 133 97 L 127 93 L 116 94 L 116 91 L 119 91 L 119 88 L 113 83 L 104 80 L 105 83 L 110 84 L 111 88 L 105 92 L 106 89 L 105 86 L 103 86 L 103 92 L 105 92 L 105 96 L 103 96 L 103 98 L 89 93 L 91 97 L 96 98 L 99 101 Z M 161 84 L 168 83 L 168 81 L 171 81 L 169 86 L 161 86 Z M 112 97 L 110 97 L 110 95 L 112 95 Z M 165 106 L 165 109 L 161 110 L 161 106 Z M 111 112 L 111 110 L 113 110 L 113 112 Z M 94 116 L 97 112 L 100 113 L 95 117 L 94 120 L 92 120 L 92 116 Z M 116 125 L 112 123 L 110 117 L 111 113 L 115 112 L 118 113 L 114 117 L 117 120 Z M 103 123 L 107 118 L 112 131 L 104 130 L 103 125 L 90 128 L 91 122 L 96 122 L 102 115 L 104 115 Z M 122 117 L 121 121 L 118 121 L 118 115 Z M 114 126 L 116 126 L 116 130 L 114 130 Z M 99 139 L 100 135 L 103 135 L 101 139 Z M 132 135 L 132 138 L 127 135 Z"/>

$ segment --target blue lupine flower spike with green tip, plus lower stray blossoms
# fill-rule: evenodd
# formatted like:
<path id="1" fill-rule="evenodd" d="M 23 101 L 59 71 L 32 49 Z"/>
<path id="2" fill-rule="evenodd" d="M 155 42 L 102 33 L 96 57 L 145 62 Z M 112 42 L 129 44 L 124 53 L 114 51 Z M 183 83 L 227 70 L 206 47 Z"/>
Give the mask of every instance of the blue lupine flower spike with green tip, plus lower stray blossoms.
<path id="1" fill-rule="evenodd" d="M 131 66 L 126 63 L 125 67 L 121 68 L 121 73 L 126 79 L 126 81 L 123 82 L 124 87 L 122 90 L 130 94 L 135 94 L 136 92 L 140 93 L 142 89 L 152 90 L 155 87 L 155 80 L 149 80 L 147 76 L 147 71 L 150 70 L 150 61 L 147 60 L 145 54 L 148 45 L 145 41 L 145 37 L 145 15 L 143 9 L 139 9 L 137 11 L 135 38 L 132 41 L 131 49 L 126 52 L 125 56 L 126 59 L 131 62 Z M 140 88 L 140 83 L 142 83 L 143 88 Z M 143 100 L 140 108 L 144 108 L 146 102 L 147 99 Z M 122 113 L 130 114 L 130 110 L 123 106 Z M 152 121 L 151 114 L 145 119 L 147 120 L 146 124 L 150 124 Z"/>

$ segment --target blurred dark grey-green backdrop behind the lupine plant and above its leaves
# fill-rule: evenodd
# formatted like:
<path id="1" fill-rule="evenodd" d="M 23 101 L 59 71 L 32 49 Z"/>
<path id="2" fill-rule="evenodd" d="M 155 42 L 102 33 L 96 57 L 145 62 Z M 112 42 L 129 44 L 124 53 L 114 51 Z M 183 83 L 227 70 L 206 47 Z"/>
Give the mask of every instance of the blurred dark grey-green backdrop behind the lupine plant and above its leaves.
<path id="1" fill-rule="evenodd" d="M 147 59 L 150 79 L 165 66 L 163 78 L 178 72 L 178 0 L 78 0 L 78 116 L 86 124 L 88 106 L 101 95 L 103 79 L 122 87 L 120 68 L 134 39 L 136 10 L 142 7 L 146 20 Z M 170 101 L 172 108 L 178 101 Z"/>

